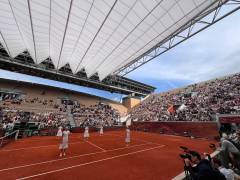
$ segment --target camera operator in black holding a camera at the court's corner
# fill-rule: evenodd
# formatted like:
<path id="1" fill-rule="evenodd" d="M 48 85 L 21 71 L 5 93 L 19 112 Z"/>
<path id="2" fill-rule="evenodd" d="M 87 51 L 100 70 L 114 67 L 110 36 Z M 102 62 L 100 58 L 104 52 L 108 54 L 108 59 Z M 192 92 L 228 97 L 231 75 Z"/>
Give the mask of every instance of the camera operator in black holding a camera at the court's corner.
<path id="1" fill-rule="evenodd" d="M 212 167 L 211 161 L 202 159 L 198 152 L 189 151 L 189 155 L 191 158 L 184 159 L 184 162 L 193 180 L 226 180 L 224 175 Z"/>

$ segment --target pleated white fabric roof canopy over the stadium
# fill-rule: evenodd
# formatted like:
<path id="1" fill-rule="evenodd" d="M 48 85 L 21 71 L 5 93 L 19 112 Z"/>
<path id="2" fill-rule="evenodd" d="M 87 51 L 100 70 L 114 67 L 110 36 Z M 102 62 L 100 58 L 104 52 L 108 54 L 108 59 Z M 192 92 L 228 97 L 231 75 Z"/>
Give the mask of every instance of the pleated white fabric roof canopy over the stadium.
<path id="1" fill-rule="evenodd" d="M 0 0 L 0 41 L 100 80 L 133 62 L 218 0 Z"/>

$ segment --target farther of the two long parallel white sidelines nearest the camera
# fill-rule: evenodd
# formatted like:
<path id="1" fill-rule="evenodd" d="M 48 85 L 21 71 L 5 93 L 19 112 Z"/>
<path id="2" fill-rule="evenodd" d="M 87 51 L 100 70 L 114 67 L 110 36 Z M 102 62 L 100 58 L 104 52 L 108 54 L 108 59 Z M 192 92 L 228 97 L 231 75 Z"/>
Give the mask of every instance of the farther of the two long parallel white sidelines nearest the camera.
<path id="1" fill-rule="evenodd" d="M 21 166 L 15 166 L 15 167 L 6 168 L 6 169 L 0 169 L 0 172 L 2 172 L 2 171 L 9 171 L 9 170 L 13 170 L 13 169 L 24 168 L 24 167 L 29 167 L 29 166 L 35 166 L 35 165 L 40 165 L 40 164 L 47 164 L 47 163 L 52 163 L 52 162 L 57 162 L 57 161 L 62 161 L 62 160 L 74 159 L 74 158 L 83 157 L 83 156 L 90 156 L 90 155 L 95 155 L 95 154 L 101 154 L 101 153 L 104 153 L 104 152 L 112 152 L 112 151 L 117 151 L 117 150 L 121 150 L 121 149 L 130 149 L 130 148 L 133 148 L 133 147 L 144 146 L 144 145 L 147 145 L 147 144 L 151 144 L 151 143 L 137 144 L 137 145 L 128 146 L 128 147 L 121 147 L 121 148 L 116 148 L 116 149 L 110 149 L 110 150 L 106 150 L 106 151 L 99 151 L 99 152 L 93 152 L 93 153 L 87 153 L 87 154 L 80 154 L 80 155 L 70 156 L 70 157 L 66 157 L 66 158 L 62 158 L 62 159 L 54 159 L 54 160 L 43 161 L 43 162 L 38 162 L 38 163 L 32 163 L 32 164 L 26 164 L 26 165 L 21 165 Z"/>

